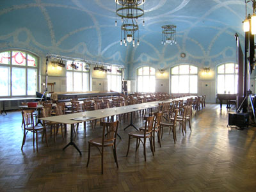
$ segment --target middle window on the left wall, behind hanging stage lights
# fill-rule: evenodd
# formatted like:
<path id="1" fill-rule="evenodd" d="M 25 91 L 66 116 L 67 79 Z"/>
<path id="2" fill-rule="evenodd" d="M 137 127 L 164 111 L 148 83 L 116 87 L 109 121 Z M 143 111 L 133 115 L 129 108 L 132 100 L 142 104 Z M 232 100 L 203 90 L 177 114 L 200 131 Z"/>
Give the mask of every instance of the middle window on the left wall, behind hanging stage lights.
<path id="1" fill-rule="evenodd" d="M 74 63 L 76 68 L 72 68 Z M 87 63 L 67 61 L 67 92 L 89 91 L 89 68 Z"/>

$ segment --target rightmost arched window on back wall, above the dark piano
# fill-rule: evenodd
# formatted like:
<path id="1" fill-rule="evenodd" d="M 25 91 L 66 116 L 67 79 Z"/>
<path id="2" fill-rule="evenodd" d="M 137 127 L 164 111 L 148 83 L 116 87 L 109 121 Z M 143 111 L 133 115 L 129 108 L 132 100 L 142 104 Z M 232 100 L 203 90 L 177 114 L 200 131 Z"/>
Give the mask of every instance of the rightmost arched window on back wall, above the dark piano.
<path id="1" fill-rule="evenodd" d="M 237 93 L 238 65 L 224 63 L 217 67 L 217 93 Z"/>

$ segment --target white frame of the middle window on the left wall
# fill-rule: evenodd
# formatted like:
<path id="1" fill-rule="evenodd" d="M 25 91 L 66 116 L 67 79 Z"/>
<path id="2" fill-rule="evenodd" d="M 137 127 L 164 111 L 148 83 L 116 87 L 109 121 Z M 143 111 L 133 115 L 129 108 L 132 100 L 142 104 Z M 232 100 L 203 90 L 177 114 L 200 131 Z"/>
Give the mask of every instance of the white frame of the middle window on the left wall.
<path id="1" fill-rule="evenodd" d="M 90 91 L 90 70 L 91 70 L 91 65 L 89 65 L 88 63 L 85 62 L 74 62 L 74 63 L 82 63 L 83 67 L 81 68 L 81 70 L 76 70 L 74 68 L 71 67 L 71 69 L 68 69 L 68 63 L 72 63 L 72 61 L 67 61 L 67 67 L 66 67 L 66 90 L 67 90 L 67 84 L 68 84 L 68 77 L 67 77 L 67 73 L 68 72 L 72 72 L 72 91 L 67 90 L 67 92 L 89 92 Z M 89 70 L 85 70 L 84 66 L 85 65 L 89 65 Z M 74 73 L 81 73 L 81 91 L 74 91 Z M 84 87 L 84 76 L 83 74 L 87 74 L 87 90 L 83 90 Z"/>

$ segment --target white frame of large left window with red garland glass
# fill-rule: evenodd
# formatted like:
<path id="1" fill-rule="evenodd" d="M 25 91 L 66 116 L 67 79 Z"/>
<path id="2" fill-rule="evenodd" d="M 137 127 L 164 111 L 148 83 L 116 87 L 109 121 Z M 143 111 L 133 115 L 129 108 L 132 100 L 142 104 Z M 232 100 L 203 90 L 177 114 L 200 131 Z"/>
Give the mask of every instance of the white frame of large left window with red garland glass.
<path id="1" fill-rule="evenodd" d="M 39 79 L 39 57 L 30 52 L 30 51 L 26 51 L 26 50 L 23 50 L 23 49 L 7 49 L 7 50 L 3 50 L 3 51 L 0 51 L 0 53 L 2 52 L 10 52 L 10 64 L 6 64 L 6 63 L 0 63 L 0 67 L 6 67 L 8 68 L 9 70 L 9 78 L 8 78 L 8 95 L 1 95 L 0 98 L 3 98 L 3 97 L 31 97 L 31 96 L 35 96 L 36 95 L 36 92 L 38 91 L 38 83 L 40 81 Z M 22 52 L 24 54 L 26 54 L 26 63 L 25 65 L 14 65 L 13 64 L 13 52 Z M 28 65 L 28 56 L 31 56 L 33 58 L 35 58 L 35 62 L 36 62 L 36 66 L 29 66 Z M 13 95 L 13 68 L 24 68 L 25 69 L 25 94 L 20 94 L 20 95 Z M 28 70 L 29 69 L 34 69 L 36 70 L 36 90 L 35 90 L 35 94 L 29 94 L 29 86 L 28 86 Z"/>

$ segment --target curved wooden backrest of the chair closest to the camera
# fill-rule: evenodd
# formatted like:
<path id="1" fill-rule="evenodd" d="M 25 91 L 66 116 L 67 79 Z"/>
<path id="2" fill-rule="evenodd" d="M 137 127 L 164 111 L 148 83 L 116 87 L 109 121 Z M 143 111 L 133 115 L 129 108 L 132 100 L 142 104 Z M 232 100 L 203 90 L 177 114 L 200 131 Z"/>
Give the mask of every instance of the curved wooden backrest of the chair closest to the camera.
<path id="1" fill-rule="evenodd" d="M 100 125 L 103 126 L 102 131 L 102 145 L 108 141 L 115 141 L 117 135 L 119 121 L 116 122 L 100 122 Z"/>

